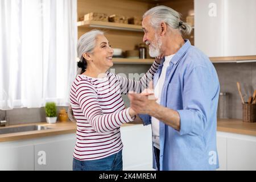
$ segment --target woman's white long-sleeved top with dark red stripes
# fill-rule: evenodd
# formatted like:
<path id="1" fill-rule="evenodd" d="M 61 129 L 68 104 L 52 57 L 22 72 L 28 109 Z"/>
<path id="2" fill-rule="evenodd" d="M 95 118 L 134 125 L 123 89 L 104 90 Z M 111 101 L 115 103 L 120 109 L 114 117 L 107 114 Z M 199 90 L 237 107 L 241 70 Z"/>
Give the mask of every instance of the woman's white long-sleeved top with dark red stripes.
<path id="1" fill-rule="evenodd" d="M 73 157 L 78 160 L 105 158 L 122 150 L 120 126 L 134 118 L 125 109 L 121 94 L 140 93 L 147 88 L 159 64 L 154 61 L 139 81 L 106 72 L 105 78 L 78 75 L 70 92 L 71 106 L 77 121 Z"/>

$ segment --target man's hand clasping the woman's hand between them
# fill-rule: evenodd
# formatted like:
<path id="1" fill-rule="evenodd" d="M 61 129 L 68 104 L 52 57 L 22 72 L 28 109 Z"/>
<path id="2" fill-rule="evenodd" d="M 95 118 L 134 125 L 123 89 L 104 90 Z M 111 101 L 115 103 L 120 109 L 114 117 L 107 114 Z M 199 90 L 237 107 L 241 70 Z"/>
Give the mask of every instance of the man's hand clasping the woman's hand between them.
<path id="1" fill-rule="evenodd" d="M 145 89 L 141 94 L 129 93 L 130 107 L 140 114 L 151 114 L 151 112 L 158 105 L 156 103 L 157 98 L 154 96 L 154 92 L 151 89 Z"/>

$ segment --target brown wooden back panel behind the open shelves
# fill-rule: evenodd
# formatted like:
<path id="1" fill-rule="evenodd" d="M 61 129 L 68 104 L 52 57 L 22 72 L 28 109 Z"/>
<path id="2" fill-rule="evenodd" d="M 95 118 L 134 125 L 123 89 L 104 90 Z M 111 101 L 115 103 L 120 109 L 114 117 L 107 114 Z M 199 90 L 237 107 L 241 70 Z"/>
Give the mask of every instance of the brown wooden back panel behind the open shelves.
<path id="1" fill-rule="evenodd" d="M 142 16 L 148 9 L 153 6 L 152 3 L 141 1 L 127 0 L 78 0 L 77 1 L 77 16 L 84 14 L 106 13 L 108 15 L 117 14 L 124 16 Z M 79 27 L 79 38 L 82 34 L 93 28 Z M 143 32 L 123 31 L 123 30 L 108 30 L 97 28 L 106 31 L 106 38 L 109 40 L 113 48 L 121 48 L 123 51 L 133 50 L 135 46 L 143 42 Z"/>

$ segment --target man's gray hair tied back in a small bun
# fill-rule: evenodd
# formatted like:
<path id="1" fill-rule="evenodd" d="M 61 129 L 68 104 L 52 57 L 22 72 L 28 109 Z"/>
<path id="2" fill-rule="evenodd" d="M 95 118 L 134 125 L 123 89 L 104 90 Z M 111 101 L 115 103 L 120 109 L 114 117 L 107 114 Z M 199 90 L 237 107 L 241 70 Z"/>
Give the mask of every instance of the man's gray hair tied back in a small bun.
<path id="1" fill-rule="evenodd" d="M 179 29 L 185 35 L 191 34 L 192 27 L 188 23 L 180 20 L 181 14 L 168 6 L 156 6 L 144 13 L 143 18 L 150 16 L 151 25 L 158 28 L 161 22 L 165 22 L 168 26 Z"/>

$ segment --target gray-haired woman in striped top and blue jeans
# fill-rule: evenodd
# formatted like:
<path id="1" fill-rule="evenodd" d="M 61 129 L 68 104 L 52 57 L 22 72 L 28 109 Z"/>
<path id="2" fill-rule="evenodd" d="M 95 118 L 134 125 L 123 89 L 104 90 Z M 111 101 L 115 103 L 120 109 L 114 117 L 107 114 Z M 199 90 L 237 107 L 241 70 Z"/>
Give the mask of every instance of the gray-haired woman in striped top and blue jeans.
<path id="1" fill-rule="evenodd" d="M 77 142 L 73 170 L 122 170 L 120 126 L 135 119 L 135 111 L 125 108 L 121 94 L 141 92 L 158 69 L 156 59 L 139 81 L 107 72 L 113 66 L 113 49 L 104 33 L 92 30 L 77 45 L 80 58 L 70 92 L 73 117 L 77 123 Z"/>

